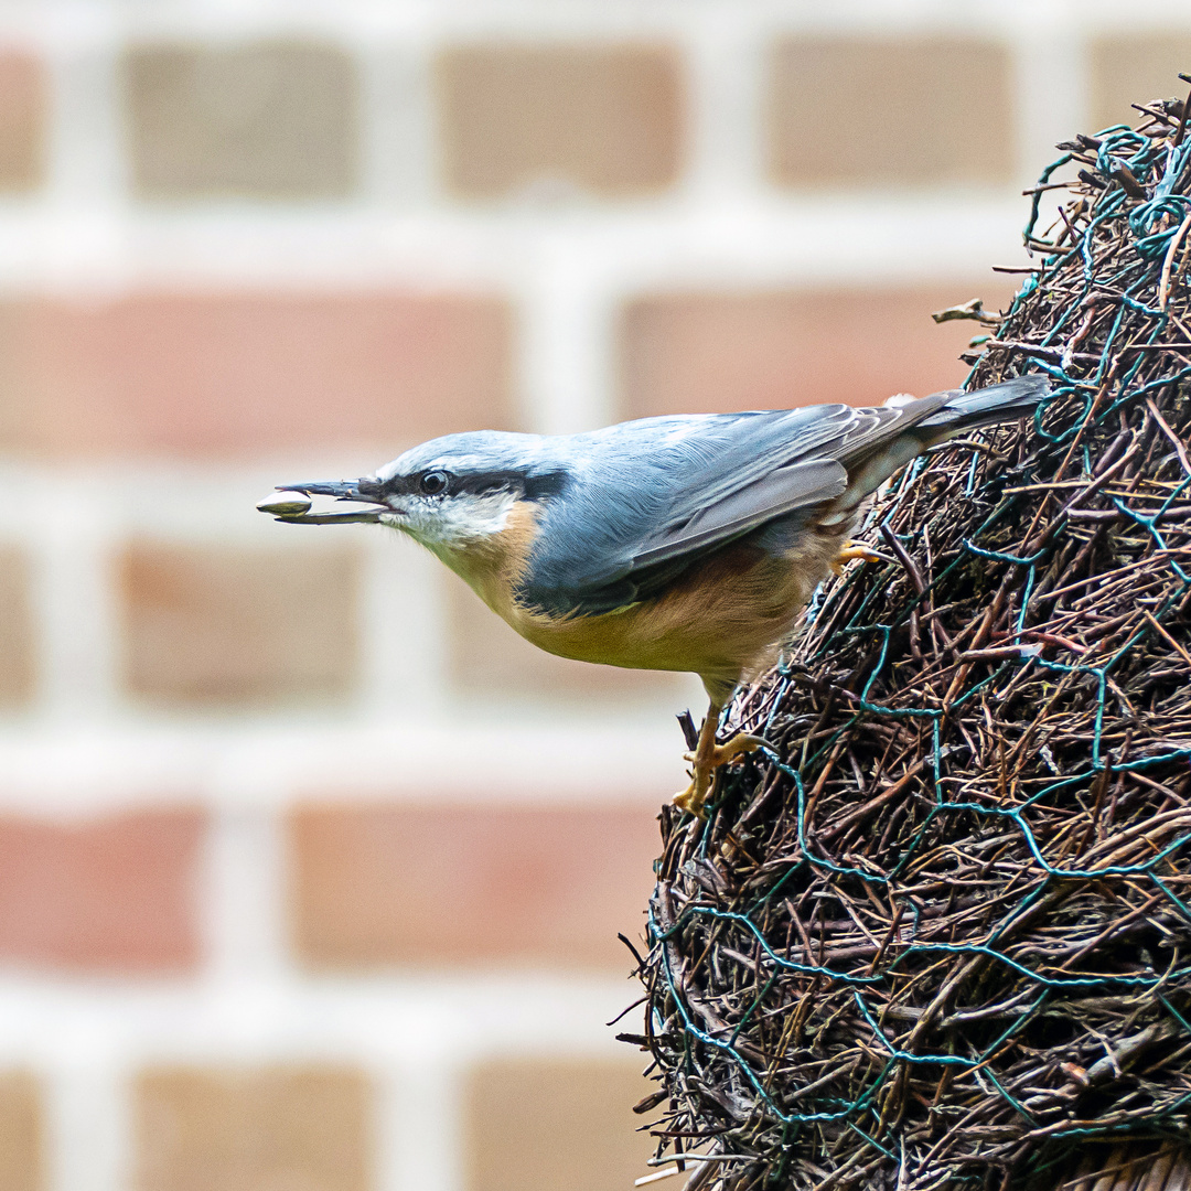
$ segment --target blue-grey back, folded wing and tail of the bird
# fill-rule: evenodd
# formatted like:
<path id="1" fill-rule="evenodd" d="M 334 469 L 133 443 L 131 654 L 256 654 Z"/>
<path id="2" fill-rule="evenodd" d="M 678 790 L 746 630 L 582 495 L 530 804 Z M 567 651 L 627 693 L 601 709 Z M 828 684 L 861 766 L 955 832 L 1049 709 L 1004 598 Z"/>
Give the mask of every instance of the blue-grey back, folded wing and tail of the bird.
<path id="1" fill-rule="evenodd" d="M 1019 417 L 1047 391 L 1031 375 L 894 407 L 651 418 L 576 436 L 573 485 L 545 512 L 523 596 L 559 612 L 632 603 L 779 517 L 850 511 L 925 447 Z"/>

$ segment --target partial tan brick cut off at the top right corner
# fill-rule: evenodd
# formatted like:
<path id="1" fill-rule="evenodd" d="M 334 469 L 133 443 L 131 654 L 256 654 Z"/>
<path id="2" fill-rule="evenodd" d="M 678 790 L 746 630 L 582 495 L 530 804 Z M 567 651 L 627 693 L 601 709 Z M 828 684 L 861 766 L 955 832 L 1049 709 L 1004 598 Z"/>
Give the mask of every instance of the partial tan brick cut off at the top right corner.
<path id="1" fill-rule="evenodd" d="M 1141 113 L 1130 105 L 1152 99 L 1187 96 L 1179 71 L 1191 70 L 1191 32 L 1185 27 L 1153 33 L 1097 38 L 1089 46 L 1092 123 L 1089 131 L 1110 124 L 1136 124 Z"/>

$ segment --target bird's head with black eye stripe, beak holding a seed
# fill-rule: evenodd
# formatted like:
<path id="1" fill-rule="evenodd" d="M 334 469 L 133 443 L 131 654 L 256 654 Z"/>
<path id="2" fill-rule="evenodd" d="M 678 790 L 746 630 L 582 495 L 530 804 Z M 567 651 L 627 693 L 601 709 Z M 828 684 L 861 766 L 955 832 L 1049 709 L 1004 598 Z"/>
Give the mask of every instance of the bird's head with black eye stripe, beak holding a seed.
<path id="1" fill-rule="evenodd" d="M 518 506 L 557 495 L 567 480 L 565 461 L 548 439 L 485 430 L 434 438 L 358 480 L 279 487 L 257 509 L 299 524 L 380 522 L 454 565 L 499 540 L 518 520 Z M 368 507 L 312 513 L 311 497 Z"/>

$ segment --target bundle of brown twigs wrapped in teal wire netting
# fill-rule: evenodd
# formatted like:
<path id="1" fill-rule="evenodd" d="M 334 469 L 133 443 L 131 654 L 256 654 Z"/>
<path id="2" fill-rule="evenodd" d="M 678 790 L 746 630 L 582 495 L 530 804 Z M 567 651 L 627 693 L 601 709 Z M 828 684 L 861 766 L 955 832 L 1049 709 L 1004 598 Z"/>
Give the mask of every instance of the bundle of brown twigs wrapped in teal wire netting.
<path id="1" fill-rule="evenodd" d="M 1041 263 L 966 311 L 969 387 L 1053 395 L 881 495 L 894 561 L 729 711 L 772 748 L 662 813 L 621 1036 L 688 1189 L 1053 1186 L 1087 1139 L 1189 1135 L 1191 138 L 1142 111 L 1060 146 Z"/>

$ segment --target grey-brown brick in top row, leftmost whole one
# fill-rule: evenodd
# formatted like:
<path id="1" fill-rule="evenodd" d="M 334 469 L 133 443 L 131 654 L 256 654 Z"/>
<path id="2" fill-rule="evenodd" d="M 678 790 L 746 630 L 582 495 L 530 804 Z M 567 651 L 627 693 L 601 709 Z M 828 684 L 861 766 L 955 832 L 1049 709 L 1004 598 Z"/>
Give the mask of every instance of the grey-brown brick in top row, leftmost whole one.
<path id="1" fill-rule="evenodd" d="M 358 83 L 336 46 L 142 45 L 123 81 L 138 195 L 335 199 L 356 186 Z"/>

